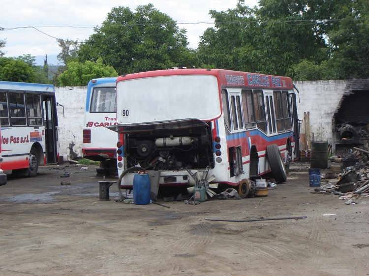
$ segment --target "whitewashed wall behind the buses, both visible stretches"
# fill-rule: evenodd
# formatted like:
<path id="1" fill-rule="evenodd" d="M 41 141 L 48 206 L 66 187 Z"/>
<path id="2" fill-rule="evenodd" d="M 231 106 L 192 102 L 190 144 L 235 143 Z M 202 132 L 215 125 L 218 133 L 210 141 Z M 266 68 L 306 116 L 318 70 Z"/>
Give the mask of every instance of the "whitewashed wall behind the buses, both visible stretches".
<path id="1" fill-rule="evenodd" d="M 310 140 L 332 143 L 332 117 L 343 96 L 348 81 L 310 81 L 294 82 L 300 91 L 297 96 L 299 119 L 304 120 L 304 112 L 310 112 Z M 60 155 L 69 155 L 69 144 L 73 141 L 73 150 L 82 156 L 83 123 L 86 101 L 86 86 L 55 87 L 58 107 Z M 304 123 L 301 132 L 305 134 Z M 304 135 L 303 135 L 304 137 Z"/>

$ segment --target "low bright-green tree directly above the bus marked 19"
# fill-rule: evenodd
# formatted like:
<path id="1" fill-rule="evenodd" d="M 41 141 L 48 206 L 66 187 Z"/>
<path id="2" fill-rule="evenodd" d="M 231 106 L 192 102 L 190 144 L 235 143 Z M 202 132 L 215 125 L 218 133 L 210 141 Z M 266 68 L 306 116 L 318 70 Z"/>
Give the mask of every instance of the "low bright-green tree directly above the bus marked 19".
<path id="1" fill-rule="evenodd" d="M 83 86 L 95 78 L 118 77 L 118 73 L 111 66 L 102 64 L 102 58 L 96 62 L 90 60 L 84 63 L 71 61 L 68 70 L 58 77 L 59 86 Z"/>

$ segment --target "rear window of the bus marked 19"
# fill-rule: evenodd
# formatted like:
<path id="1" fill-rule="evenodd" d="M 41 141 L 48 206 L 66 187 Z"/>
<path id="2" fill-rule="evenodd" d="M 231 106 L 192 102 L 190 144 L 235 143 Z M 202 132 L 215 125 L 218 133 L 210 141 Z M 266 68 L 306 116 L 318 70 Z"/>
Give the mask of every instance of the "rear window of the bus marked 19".
<path id="1" fill-rule="evenodd" d="M 90 112 L 116 112 L 117 93 L 115 87 L 97 87 L 93 89 Z"/>

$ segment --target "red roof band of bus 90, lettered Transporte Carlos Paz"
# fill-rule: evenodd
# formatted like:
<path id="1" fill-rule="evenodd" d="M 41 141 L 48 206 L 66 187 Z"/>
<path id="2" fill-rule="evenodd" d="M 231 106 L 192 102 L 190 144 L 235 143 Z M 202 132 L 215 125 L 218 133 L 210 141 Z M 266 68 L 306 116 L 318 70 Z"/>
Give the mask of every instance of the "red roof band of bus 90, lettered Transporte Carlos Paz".
<path id="1" fill-rule="evenodd" d="M 292 79 L 289 77 L 240 72 L 225 69 L 167 69 L 167 70 L 148 71 L 119 76 L 117 79 L 117 83 L 141 78 L 175 76 L 175 75 L 214 75 L 215 77 L 217 77 L 220 86 L 233 86 L 233 87 L 247 86 L 252 88 L 272 88 L 272 89 L 293 88 Z"/>

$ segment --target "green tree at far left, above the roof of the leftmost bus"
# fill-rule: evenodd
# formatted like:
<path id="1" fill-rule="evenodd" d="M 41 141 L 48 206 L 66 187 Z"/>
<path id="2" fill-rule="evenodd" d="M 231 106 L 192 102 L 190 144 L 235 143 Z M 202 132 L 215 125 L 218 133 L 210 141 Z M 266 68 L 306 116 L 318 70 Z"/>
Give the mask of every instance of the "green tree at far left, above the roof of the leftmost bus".
<path id="1" fill-rule="evenodd" d="M 19 58 L 0 57 L 0 81 L 35 83 L 36 73 L 32 66 Z"/>

